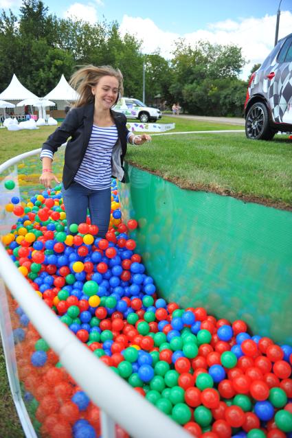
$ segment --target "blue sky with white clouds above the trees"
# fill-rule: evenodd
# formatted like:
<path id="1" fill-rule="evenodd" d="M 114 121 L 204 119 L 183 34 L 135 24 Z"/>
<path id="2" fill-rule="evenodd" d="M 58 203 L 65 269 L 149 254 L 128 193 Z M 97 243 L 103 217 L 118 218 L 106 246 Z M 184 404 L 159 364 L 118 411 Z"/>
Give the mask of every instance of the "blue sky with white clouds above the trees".
<path id="1" fill-rule="evenodd" d="M 275 41 L 280 5 L 279 39 L 292 32 L 292 0 L 43 0 L 59 17 L 78 17 L 89 23 L 117 21 L 120 32 L 143 41 L 142 52 L 160 50 L 172 58 L 174 43 L 185 38 L 242 47 L 247 64 L 240 73 L 246 80 L 251 67 L 265 60 Z M 17 14 L 21 0 L 0 0 L 0 9 Z"/>

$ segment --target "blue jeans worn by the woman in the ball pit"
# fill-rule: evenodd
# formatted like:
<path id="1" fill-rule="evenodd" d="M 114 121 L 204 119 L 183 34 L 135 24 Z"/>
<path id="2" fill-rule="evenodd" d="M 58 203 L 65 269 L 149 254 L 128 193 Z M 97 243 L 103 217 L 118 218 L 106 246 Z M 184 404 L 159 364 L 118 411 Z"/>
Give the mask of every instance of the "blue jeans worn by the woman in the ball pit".
<path id="1" fill-rule="evenodd" d="M 91 224 L 98 226 L 98 237 L 104 238 L 109 229 L 111 216 L 111 188 L 87 189 L 74 181 L 67 190 L 62 187 L 62 195 L 68 232 L 71 224 L 86 222 L 87 209 L 89 209 Z"/>

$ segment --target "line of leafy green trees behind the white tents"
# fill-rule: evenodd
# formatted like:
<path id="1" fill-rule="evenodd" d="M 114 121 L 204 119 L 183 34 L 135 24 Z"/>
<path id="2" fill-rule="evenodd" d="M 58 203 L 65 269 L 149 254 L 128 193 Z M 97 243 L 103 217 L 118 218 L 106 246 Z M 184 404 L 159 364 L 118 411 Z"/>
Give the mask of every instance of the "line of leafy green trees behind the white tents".
<path id="1" fill-rule="evenodd" d="M 41 0 L 23 0 L 19 15 L 0 15 L 0 91 L 15 73 L 38 96 L 51 91 L 62 73 L 69 80 L 82 65 L 112 65 L 124 76 L 124 95 L 142 100 L 155 96 L 171 108 L 198 115 L 242 115 L 247 82 L 238 79 L 245 65 L 241 48 L 200 41 L 191 47 L 182 38 L 171 60 L 159 51 L 142 54 L 142 41 L 120 35 L 119 24 L 106 20 L 89 24 L 49 13 Z"/>

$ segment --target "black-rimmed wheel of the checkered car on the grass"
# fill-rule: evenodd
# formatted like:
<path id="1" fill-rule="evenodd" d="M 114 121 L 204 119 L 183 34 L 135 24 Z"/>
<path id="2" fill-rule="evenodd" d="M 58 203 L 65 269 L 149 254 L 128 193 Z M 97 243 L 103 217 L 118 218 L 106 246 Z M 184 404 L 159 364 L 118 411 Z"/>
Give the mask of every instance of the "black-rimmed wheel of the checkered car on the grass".
<path id="1" fill-rule="evenodd" d="M 276 134 L 269 125 L 267 106 L 256 102 L 249 108 L 245 119 L 245 135 L 252 140 L 271 140 Z"/>

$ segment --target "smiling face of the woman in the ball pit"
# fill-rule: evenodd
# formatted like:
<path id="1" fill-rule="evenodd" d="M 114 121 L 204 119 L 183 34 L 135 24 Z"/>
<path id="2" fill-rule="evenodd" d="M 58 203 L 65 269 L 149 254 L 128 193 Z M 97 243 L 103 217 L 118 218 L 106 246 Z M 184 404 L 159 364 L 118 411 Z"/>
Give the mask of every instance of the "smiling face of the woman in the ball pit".
<path id="1" fill-rule="evenodd" d="M 115 104 L 119 93 L 119 82 L 114 76 L 102 76 L 98 83 L 91 87 L 96 108 L 109 110 Z"/>

